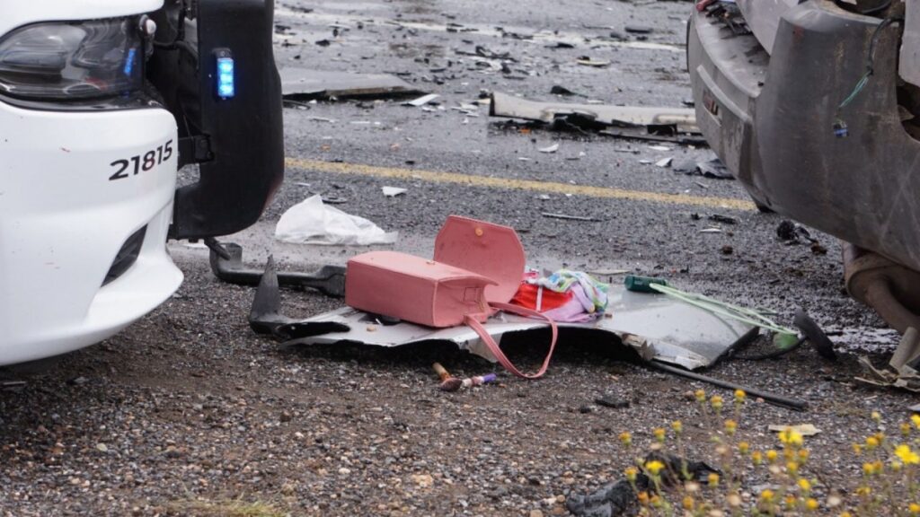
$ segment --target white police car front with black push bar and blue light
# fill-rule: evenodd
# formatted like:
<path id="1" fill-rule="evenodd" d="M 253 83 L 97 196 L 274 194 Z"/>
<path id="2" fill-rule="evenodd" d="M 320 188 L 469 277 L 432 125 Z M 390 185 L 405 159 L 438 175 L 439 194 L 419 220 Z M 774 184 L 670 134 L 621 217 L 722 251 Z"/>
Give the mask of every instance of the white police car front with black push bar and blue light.
<path id="1" fill-rule="evenodd" d="M 0 365 L 85 347 L 149 313 L 182 281 L 167 237 L 252 224 L 281 180 L 272 3 L 163 4 L 0 6 Z M 263 55 L 221 35 L 247 24 Z M 241 59 L 264 63 L 247 79 Z M 253 110 L 268 113 L 270 142 L 247 150 L 246 133 L 266 131 L 246 120 Z M 177 190 L 190 163 L 201 179 Z"/>

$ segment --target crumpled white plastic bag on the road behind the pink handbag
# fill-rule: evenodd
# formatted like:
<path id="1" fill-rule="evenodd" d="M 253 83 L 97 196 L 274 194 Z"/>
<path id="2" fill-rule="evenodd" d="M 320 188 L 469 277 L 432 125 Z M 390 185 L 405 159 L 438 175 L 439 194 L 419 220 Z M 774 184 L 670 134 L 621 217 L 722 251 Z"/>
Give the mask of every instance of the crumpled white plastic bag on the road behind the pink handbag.
<path id="1" fill-rule="evenodd" d="M 293 205 L 275 226 L 276 239 L 295 244 L 370 246 L 393 244 L 398 236 L 363 217 L 323 204 L 318 195 Z"/>

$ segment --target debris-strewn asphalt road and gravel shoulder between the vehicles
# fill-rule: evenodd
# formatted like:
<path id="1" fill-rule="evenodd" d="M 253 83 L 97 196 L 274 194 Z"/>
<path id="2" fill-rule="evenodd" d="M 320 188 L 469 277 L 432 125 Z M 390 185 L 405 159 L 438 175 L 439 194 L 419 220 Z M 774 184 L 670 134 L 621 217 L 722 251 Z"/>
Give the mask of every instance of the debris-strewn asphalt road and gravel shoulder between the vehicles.
<path id="1" fill-rule="evenodd" d="M 823 362 L 805 347 L 773 362 L 730 360 L 708 373 L 806 400 L 810 409 L 801 414 L 752 403 L 741 431 L 767 447 L 776 445 L 767 424 L 814 423 L 823 432 L 810 439 L 810 468 L 827 484 L 822 493 L 852 489 L 860 462 L 849 444 L 877 429 L 868 412 L 879 410 L 894 428 L 910 397 L 852 382 L 857 356 L 882 361 L 897 337 L 846 296 L 834 238 L 813 234 L 826 253 L 790 246 L 776 236 L 783 218 L 758 213 L 737 182 L 654 165 L 709 159 L 706 147 L 655 149 L 509 124 L 490 118 L 487 106 L 454 109 L 483 90 L 682 107 L 690 97 L 689 8 L 608 0 L 281 2 L 281 68 L 398 75 L 439 94 L 440 104 L 342 100 L 285 109 L 284 185 L 259 224 L 222 240 L 244 245 L 254 268 L 273 254 L 282 269 L 308 271 L 372 248 L 430 254 L 444 219 L 459 214 L 513 226 L 534 267 L 663 276 L 684 290 L 773 308 L 785 324 L 802 307 L 832 333 L 840 361 Z M 507 52 L 505 70 L 477 63 L 468 55 L 477 47 Z M 585 66 L 581 56 L 610 64 Z M 583 97 L 558 98 L 552 86 Z M 539 151 L 552 144 L 557 152 Z M 385 197 L 382 187 L 407 192 Z M 315 193 L 399 232 L 397 244 L 275 241 L 280 215 Z M 713 214 L 737 223 L 714 222 Z M 0 514 L 220 515 L 250 503 L 266 515 L 559 514 L 571 494 L 621 477 L 630 465 L 619 432 L 648 437 L 675 418 L 705 432 L 691 423 L 696 406 L 685 398 L 705 385 L 626 362 L 613 343 L 563 342 L 545 380 L 502 375 L 500 386 L 455 395 L 435 389 L 431 361 L 457 374 L 497 367 L 444 348 L 279 350 L 247 327 L 252 289 L 214 279 L 206 249 L 169 246 L 186 281 L 167 304 L 50 370 L 7 373 L 27 384 L 0 391 Z M 340 304 L 311 292 L 285 292 L 283 302 L 291 316 Z M 534 365 L 539 353 L 517 359 Z M 592 406 L 604 394 L 630 407 Z M 707 454 L 705 439 L 694 451 Z M 757 476 L 748 486 L 763 483 Z"/>

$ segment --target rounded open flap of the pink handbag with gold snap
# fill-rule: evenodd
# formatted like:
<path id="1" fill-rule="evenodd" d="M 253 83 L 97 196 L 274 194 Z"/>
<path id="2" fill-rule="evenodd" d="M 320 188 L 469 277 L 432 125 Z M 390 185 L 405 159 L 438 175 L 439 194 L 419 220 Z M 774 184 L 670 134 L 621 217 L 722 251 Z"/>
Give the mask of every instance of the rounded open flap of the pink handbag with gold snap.
<path id="1" fill-rule="evenodd" d="M 495 281 L 489 303 L 506 304 L 521 285 L 526 259 L 514 228 L 451 215 L 434 241 L 434 259 Z"/>

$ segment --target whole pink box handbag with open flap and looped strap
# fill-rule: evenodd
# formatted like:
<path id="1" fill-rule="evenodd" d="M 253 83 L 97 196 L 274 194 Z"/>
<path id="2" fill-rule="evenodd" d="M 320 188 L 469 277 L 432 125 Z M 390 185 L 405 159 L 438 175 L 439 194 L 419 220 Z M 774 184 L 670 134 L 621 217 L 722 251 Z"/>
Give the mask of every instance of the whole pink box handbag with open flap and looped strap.
<path id="1" fill-rule="evenodd" d="M 508 304 L 523 278 L 521 239 L 513 228 L 452 215 L 434 242 L 434 259 L 394 251 L 372 251 L 348 261 L 345 303 L 427 327 L 466 323 L 476 330 L 502 366 L 520 377 L 546 373 L 556 348 L 556 323 L 536 311 Z M 521 373 L 482 323 L 502 310 L 546 319 L 552 342 L 537 373 Z"/>

